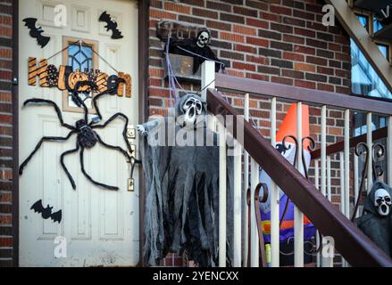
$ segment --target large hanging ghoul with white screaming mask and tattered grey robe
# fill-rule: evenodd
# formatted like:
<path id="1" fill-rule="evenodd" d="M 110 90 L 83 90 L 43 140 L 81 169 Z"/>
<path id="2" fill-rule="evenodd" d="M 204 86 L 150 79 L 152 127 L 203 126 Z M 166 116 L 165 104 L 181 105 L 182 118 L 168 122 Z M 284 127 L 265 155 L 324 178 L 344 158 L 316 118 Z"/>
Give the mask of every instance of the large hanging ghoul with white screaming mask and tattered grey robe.
<path id="1" fill-rule="evenodd" d="M 137 126 L 146 177 L 144 256 L 158 265 L 169 252 L 200 266 L 218 262 L 219 146 L 205 124 L 206 103 L 185 94 L 174 116 Z M 227 211 L 232 213 L 233 160 L 228 157 Z M 228 265 L 232 216 L 227 216 Z"/>

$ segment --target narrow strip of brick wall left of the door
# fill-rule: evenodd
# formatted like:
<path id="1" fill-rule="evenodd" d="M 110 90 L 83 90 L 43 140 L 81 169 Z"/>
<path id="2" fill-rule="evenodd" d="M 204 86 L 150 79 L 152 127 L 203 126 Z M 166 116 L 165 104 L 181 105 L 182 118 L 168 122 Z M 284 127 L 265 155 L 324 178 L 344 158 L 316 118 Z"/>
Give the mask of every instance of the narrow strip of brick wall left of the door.
<path id="1" fill-rule="evenodd" d="M 0 2 L 0 267 L 13 265 L 12 3 Z"/>

